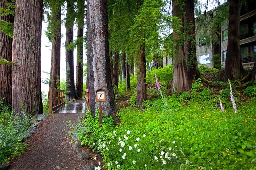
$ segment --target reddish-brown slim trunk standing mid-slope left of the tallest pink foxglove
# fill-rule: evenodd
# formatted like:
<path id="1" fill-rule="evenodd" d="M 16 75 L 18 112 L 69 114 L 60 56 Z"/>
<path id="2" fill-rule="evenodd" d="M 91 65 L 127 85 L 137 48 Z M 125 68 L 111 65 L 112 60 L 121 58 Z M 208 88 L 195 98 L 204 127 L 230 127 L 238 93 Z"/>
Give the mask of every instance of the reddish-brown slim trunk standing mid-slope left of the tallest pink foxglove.
<path id="1" fill-rule="evenodd" d="M 136 63 L 137 74 L 137 106 L 141 106 L 142 102 L 147 99 L 146 86 L 146 53 L 145 47 L 141 47 L 139 51 L 139 58 Z"/>

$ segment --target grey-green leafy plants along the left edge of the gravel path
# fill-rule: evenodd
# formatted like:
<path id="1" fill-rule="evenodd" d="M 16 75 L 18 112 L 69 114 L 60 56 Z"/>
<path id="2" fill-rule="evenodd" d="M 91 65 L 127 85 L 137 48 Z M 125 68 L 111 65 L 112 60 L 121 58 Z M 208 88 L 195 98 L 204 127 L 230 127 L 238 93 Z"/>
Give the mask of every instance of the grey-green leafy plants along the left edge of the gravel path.
<path id="1" fill-rule="evenodd" d="M 0 100 L 0 164 L 8 163 L 10 156 L 18 156 L 26 149 L 22 140 L 28 135 L 30 116 L 11 111 Z"/>

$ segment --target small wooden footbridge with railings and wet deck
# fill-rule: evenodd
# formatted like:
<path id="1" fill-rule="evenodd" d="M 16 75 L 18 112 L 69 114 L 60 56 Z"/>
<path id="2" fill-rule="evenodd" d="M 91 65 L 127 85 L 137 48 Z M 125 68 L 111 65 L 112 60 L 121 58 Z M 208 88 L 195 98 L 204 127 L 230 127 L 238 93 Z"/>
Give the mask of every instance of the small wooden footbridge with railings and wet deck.
<path id="1" fill-rule="evenodd" d="M 85 89 L 85 100 L 65 104 L 64 90 L 50 88 L 49 113 L 85 113 L 90 108 L 89 89 Z"/>

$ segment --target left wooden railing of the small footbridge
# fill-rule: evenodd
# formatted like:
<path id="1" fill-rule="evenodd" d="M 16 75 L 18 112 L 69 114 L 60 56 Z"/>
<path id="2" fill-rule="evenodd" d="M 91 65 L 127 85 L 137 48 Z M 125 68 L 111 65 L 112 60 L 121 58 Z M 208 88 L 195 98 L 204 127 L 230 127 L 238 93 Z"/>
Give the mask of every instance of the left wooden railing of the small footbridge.
<path id="1" fill-rule="evenodd" d="M 50 88 L 49 113 L 65 105 L 64 90 Z"/>

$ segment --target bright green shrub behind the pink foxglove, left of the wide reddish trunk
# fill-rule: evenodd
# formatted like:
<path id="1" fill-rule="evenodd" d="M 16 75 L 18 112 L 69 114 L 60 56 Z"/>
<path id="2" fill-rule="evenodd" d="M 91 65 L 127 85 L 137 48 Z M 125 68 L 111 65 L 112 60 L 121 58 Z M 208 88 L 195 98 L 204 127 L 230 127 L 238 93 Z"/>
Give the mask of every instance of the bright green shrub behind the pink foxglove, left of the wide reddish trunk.
<path id="1" fill-rule="evenodd" d="M 155 73 L 160 84 L 170 84 L 173 79 L 173 65 L 164 66 L 163 68 L 152 69 L 147 71 L 147 84 L 156 84 Z"/>

